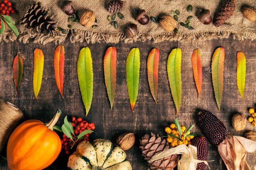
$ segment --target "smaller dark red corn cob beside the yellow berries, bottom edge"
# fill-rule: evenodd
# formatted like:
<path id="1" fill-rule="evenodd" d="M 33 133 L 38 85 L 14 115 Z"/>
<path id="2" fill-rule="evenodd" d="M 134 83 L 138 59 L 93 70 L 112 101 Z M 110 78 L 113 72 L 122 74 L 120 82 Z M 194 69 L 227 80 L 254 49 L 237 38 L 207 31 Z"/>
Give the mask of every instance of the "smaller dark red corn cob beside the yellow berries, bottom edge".
<path id="1" fill-rule="evenodd" d="M 196 146 L 198 150 L 198 160 L 206 161 L 208 155 L 208 143 L 206 139 L 203 136 L 195 137 L 192 145 Z M 205 164 L 203 162 L 198 163 L 196 170 L 205 170 Z"/>

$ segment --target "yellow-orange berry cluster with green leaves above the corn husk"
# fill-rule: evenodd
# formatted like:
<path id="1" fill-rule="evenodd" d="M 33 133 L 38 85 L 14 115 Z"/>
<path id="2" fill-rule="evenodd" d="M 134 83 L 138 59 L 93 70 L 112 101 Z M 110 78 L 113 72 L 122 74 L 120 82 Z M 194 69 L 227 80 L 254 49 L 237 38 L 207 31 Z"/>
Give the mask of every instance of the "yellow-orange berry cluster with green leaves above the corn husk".
<path id="1" fill-rule="evenodd" d="M 186 127 L 182 126 L 182 125 L 180 125 L 180 126 L 181 126 L 181 130 L 182 130 L 181 137 L 179 135 L 179 130 L 175 126 L 175 124 L 171 124 L 170 127 L 166 127 L 164 129 L 165 132 L 167 133 L 167 139 L 166 140 L 171 144 L 172 147 L 175 147 L 175 146 L 178 146 L 178 145 L 181 145 L 181 144 L 189 145 L 189 144 L 191 144 L 190 140 L 194 138 L 194 136 L 184 138 L 184 135 L 186 133 Z M 175 135 L 179 140 L 175 137 L 172 137 L 171 135 L 168 135 L 168 134 Z M 186 135 L 189 135 L 189 134 L 190 134 L 190 131 Z"/>

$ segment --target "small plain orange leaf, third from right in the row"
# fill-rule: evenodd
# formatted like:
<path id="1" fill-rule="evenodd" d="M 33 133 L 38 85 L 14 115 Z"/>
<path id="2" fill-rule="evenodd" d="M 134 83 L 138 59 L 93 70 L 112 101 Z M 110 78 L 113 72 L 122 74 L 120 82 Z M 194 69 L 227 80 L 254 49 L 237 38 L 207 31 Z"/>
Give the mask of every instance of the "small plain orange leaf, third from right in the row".
<path id="1" fill-rule="evenodd" d="M 195 85 L 198 90 L 198 97 L 202 88 L 202 62 L 200 49 L 195 49 L 192 53 L 192 68 L 195 79 Z"/>

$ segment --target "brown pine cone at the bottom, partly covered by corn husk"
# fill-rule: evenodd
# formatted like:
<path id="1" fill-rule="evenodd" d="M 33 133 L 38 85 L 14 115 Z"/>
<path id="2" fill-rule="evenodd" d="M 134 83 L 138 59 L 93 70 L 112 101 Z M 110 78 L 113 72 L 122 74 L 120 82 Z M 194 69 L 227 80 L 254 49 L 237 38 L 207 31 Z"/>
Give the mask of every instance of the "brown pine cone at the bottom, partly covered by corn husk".
<path id="1" fill-rule="evenodd" d="M 145 157 L 148 162 L 148 166 L 150 166 L 152 170 L 173 170 L 173 168 L 177 166 L 180 159 L 177 154 L 149 162 L 154 155 L 170 148 L 168 142 L 166 142 L 165 139 L 160 138 L 158 135 L 155 136 L 152 132 L 151 135 L 145 135 L 142 137 L 142 140 L 140 140 L 140 145 L 141 146 L 139 148 L 142 150 L 142 156 Z"/>

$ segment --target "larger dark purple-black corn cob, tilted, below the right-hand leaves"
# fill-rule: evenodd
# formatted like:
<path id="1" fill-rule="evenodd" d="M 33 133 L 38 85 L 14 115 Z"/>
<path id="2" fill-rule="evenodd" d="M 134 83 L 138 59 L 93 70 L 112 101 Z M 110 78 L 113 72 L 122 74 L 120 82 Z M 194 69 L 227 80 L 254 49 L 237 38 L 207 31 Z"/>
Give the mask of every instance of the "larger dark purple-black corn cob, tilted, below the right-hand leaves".
<path id="1" fill-rule="evenodd" d="M 198 122 L 200 129 L 213 145 L 220 144 L 227 136 L 224 124 L 207 110 L 198 113 Z"/>

